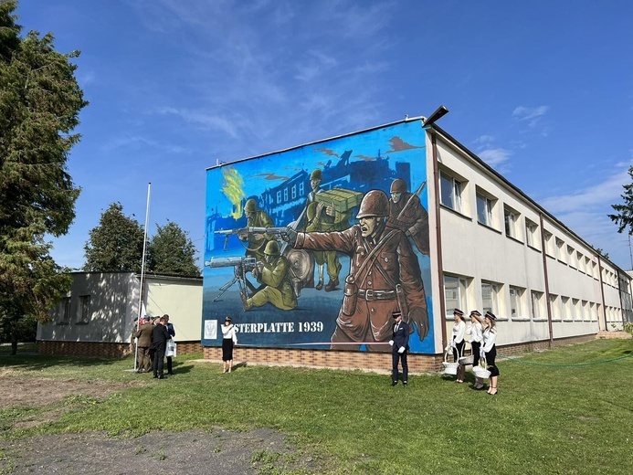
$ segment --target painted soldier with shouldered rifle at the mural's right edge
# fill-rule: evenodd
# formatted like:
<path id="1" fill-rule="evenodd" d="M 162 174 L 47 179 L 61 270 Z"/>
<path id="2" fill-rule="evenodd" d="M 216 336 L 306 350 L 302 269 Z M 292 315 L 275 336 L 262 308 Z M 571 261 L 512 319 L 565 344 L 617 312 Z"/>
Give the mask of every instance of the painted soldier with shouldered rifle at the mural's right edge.
<path id="1" fill-rule="evenodd" d="M 406 190 L 406 182 L 397 178 L 391 184 L 388 227 L 396 227 L 411 237 L 417 250 L 428 256 L 428 213 L 415 193 Z"/>

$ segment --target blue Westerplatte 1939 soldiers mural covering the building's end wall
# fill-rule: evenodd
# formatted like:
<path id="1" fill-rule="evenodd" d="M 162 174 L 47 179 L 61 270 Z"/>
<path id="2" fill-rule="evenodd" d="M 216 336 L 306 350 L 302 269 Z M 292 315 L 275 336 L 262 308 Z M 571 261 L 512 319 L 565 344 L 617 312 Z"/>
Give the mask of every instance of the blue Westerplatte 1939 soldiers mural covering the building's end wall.
<path id="1" fill-rule="evenodd" d="M 427 203 L 419 121 L 208 169 L 202 344 L 435 353 Z"/>

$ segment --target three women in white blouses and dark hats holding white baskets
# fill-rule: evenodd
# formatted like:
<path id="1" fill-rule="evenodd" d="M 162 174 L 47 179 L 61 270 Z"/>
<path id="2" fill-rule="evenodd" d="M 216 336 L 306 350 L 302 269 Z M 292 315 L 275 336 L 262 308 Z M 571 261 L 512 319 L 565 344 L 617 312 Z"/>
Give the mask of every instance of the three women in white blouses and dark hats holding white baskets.
<path id="1" fill-rule="evenodd" d="M 451 346 L 455 363 L 458 363 L 459 358 L 464 355 L 464 346 L 466 344 L 465 335 L 470 335 L 470 348 L 473 358 L 472 365 L 474 367 L 484 362 L 488 366 L 488 371 L 491 372 L 491 375 L 487 392 L 491 396 L 496 395 L 498 392 L 497 384 L 499 382 L 499 368 L 495 364 L 497 357 L 497 348 L 495 346 L 497 341 L 497 317 L 491 311 L 486 311 L 482 319 L 480 311 L 473 310 L 470 312 L 470 322 L 467 328 L 463 311 L 455 309 L 453 316 L 455 317 L 455 324 L 453 325 Z M 465 372 L 466 365 L 459 364 L 457 383 L 464 382 Z M 476 376 L 475 385 L 472 387 L 473 389 L 482 390 L 486 386 L 483 383 L 483 379 Z"/>

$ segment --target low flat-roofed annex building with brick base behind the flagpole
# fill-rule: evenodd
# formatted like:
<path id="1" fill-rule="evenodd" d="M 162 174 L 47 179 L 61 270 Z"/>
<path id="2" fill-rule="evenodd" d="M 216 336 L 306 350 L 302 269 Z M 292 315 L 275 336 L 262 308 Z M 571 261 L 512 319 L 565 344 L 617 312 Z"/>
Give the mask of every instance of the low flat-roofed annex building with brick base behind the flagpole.
<path id="1" fill-rule="evenodd" d="M 141 283 L 133 272 L 73 272 L 67 295 L 37 325 L 41 354 L 124 356 L 139 315 Z M 200 352 L 202 278 L 144 276 L 143 301 L 150 316 L 167 313 L 174 324 L 178 353 Z"/>

